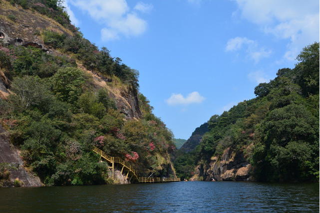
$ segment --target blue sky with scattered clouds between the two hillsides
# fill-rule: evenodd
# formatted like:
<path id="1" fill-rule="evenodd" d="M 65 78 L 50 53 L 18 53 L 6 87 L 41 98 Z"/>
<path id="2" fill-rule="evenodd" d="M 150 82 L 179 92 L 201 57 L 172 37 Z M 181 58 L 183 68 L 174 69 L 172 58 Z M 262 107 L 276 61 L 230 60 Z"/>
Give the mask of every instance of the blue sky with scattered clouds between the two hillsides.
<path id="1" fill-rule="evenodd" d="M 176 138 L 293 68 L 319 42 L 319 0 L 65 0 L 84 37 L 140 73 Z"/>

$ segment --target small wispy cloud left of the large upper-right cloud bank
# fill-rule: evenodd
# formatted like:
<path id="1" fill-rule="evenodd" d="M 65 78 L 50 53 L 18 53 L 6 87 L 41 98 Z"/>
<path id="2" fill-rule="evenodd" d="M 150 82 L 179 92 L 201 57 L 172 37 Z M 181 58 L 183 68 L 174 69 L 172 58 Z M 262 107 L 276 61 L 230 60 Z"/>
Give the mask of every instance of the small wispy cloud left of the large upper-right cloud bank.
<path id="1" fill-rule="evenodd" d="M 246 37 L 235 37 L 228 40 L 225 50 L 227 52 L 239 51 L 245 49 L 246 57 L 254 60 L 256 63 L 262 58 L 267 58 L 271 55 L 272 51 L 259 47 L 258 43 Z"/>

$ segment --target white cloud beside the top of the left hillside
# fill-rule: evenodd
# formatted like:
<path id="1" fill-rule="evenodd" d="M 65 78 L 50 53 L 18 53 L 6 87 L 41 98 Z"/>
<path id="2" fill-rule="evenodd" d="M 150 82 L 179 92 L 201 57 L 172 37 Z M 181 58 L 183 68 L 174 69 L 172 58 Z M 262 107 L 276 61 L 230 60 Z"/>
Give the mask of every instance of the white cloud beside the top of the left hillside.
<path id="1" fill-rule="evenodd" d="M 101 29 L 104 41 L 122 36 L 137 36 L 145 32 L 147 22 L 137 12 L 148 12 L 152 8 L 152 4 L 139 2 L 130 10 L 126 0 L 70 0 L 70 3 L 104 24 Z"/>

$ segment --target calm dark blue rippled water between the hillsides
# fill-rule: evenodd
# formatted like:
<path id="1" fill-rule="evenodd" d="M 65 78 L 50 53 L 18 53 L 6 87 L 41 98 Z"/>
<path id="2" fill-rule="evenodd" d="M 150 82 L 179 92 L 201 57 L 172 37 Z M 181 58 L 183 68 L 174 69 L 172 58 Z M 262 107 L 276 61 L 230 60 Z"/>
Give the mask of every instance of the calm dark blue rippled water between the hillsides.
<path id="1" fill-rule="evenodd" d="M 318 212 L 318 184 L 178 182 L 0 188 L 0 212 Z"/>

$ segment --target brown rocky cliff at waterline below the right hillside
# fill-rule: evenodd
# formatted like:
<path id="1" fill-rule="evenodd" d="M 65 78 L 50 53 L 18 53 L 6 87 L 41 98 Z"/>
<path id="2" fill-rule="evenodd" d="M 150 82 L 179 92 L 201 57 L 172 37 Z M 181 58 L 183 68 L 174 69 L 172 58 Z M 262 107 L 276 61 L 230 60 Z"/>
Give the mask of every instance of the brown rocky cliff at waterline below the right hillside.
<path id="1" fill-rule="evenodd" d="M 245 159 L 242 152 L 235 152 L 231 148 L 225 150 L 221 159 L 211 158 L 209 166 L 196 168 L 194 180 L 212 181 L 253 181 L 250 173 L 252 166 Z"/>

